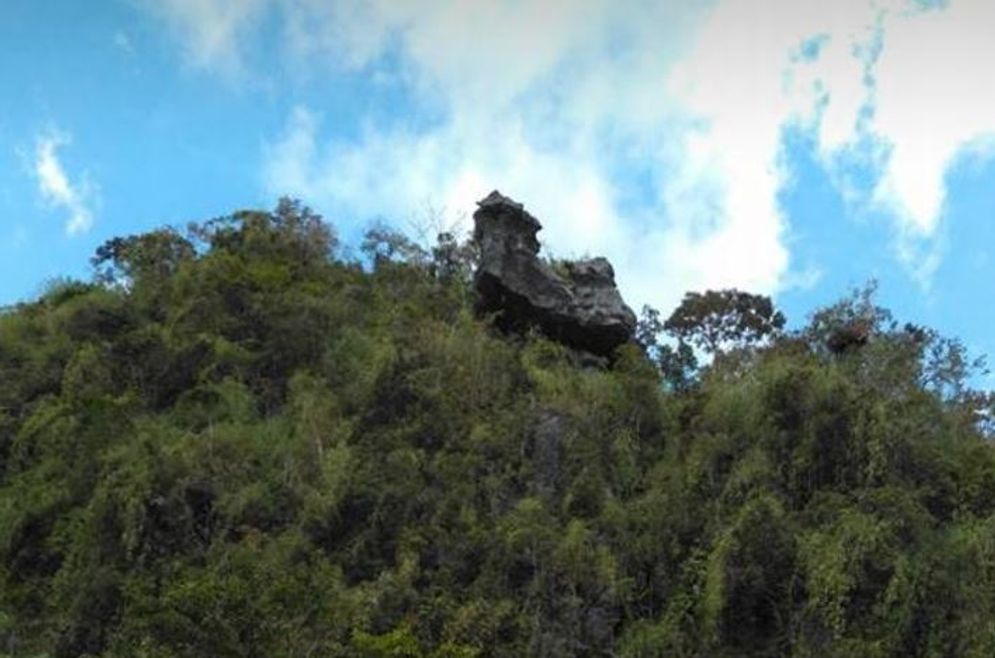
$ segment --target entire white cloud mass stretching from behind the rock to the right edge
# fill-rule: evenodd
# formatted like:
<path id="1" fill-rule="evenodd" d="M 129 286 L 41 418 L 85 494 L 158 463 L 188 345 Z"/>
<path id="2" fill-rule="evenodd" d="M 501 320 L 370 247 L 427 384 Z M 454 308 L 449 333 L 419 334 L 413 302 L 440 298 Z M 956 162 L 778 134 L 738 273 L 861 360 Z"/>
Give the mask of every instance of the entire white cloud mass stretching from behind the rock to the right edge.
<path id="1" fill-rule="evenodd" d="M 557 251 L 605 253 L 635 300 L 667 307 L 687 289 L 811 284 L 778 202 L 792 126 L 815 136 L 852 210 L 895 218 L 897 253 L 928 280 L 946 171 L 965 148 L 985 157 L 995 128 L 995 5 L 942 5 L 167 0 L 159 13 L 224 73 L 270 12 L 290 56 L 405 99 L 347 139 L 322 138 L 338 117 L 297 108 L 267 148 L 272 192 L 403 218 L 427 198 L 472 210 L 497 187 Z"/>

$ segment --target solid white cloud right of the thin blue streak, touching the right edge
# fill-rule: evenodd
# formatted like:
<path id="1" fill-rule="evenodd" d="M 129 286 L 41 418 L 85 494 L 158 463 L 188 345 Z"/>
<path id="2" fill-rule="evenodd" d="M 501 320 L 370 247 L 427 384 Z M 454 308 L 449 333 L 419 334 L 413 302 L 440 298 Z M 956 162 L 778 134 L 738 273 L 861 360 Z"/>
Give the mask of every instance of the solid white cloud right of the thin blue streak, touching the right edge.
<path id="1" fill-rule="evenodd" d="M 889 16 L 869 130 L 891 149 L 876 198 L 910 231 L 931 235 L 957 155 L 995 134 L 995 4 Z"/>

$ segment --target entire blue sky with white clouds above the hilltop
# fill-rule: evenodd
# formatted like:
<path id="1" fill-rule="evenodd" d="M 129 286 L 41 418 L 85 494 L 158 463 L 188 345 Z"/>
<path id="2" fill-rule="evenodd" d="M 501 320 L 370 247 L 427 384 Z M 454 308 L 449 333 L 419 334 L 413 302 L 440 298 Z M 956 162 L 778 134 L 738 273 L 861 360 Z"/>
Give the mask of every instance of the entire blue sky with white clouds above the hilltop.
<path id="1" fill-rule="evenodd" d="M 301 198 L 466 228 L 499 188 L 638 307 L 870 278 L 995 355 L 981 0 L 6 0 L 0 304 L 104 240 Z"/>

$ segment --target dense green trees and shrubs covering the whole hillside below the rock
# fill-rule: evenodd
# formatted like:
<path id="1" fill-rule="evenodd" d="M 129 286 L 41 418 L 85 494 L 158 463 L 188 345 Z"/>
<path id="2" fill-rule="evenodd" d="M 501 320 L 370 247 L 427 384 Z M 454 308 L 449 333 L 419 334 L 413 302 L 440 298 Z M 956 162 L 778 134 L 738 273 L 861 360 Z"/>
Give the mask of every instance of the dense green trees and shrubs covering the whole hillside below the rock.
<path id="1" fill-rule="evenodd" d="M 281 202 L 0 314 L 0 655 L 995 654 L 956 341 L 707 293 L 581 367 L 452 236 L 363 253 Z"/>

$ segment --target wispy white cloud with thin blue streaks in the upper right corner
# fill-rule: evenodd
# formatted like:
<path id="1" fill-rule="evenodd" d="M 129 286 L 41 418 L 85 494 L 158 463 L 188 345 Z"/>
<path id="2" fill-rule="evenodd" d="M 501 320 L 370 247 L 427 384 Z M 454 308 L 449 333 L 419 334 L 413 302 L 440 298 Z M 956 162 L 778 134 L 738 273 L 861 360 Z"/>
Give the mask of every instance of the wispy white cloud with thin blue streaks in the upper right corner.
<path id="1" fill-rule="evenodd" d="M 947 176 L 961 156 L 992 153 L 995 6 L 878 0 L 821 13 L 834 19 L 826 38 L 791 73 L 815 101 L 823 163 L 851 209 L 893 219 L 895 253 L 928 287 L 945 248 Z"/>

